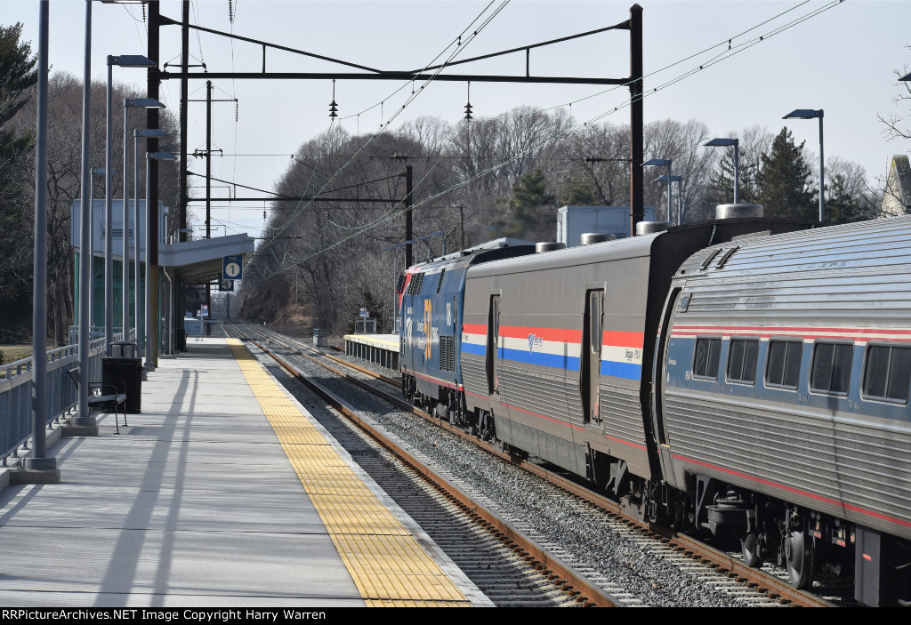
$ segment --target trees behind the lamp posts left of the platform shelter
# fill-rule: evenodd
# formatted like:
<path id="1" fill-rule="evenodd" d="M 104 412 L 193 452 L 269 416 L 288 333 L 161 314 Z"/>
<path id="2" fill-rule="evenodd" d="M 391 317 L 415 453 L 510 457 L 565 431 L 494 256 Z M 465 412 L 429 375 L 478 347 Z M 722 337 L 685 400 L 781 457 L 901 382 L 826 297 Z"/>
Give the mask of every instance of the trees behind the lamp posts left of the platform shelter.
<path id="1" fill-rule="evenodd" d="M 27 338 L 31 333 L 34 284 L 36 55 L 20 39 L 22 25 L 0 25 L 0 341 Z M 123 197 L 124 98 L 143 96 L 136 87 L 113 86 L 111 141 L 115 199 Z M 74 319 L 74 254 L 71 246 L 71 207 L 82 197 L 83 82 L 54 72 L 47 88 L 47 331 L 56 345 L 67 343 Z M 90 166 L 105 166 L 107 85 L 90 89 Z M 145 127 L 145 115 L 134 110 L 130 127 Z M 175 136 L 177 124 L 167 110 L 159 126 Z M 177 149 L 177 140 L 159 141 L 161 150 Z M 132 160 L 132 146 L 129 146 Z M 139 146 L 140 154 L 144 146 Z M 130 172 L 132 178 L 133 172 Z M 95 176 L 93 197 L 105 197 L 105 176 Z M 132 183 L 130 184 L 132 186 Z M 139 188 L 145 186 L 145 167 L 139 166 Z M 142 192 L 140 191 L 140 197 Z M 132 188 L 129 189 L 132 196 Z M 176 206 L 176 166 L 159 166 L 159 197 Z M 96 232 L 101 225 L 96 224 Z"/>

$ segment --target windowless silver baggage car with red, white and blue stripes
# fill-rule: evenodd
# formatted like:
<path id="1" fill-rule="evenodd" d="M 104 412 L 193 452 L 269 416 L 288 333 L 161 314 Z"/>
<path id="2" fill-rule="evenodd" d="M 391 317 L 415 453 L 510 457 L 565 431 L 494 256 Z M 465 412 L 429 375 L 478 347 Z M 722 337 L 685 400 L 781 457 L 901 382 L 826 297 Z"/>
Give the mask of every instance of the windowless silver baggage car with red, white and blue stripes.
<path id="1" fill-rule="evenodd" d="M 652 355 L 671 277 L 701 248 L 804 227 L 719 220 L 471 267 L 461 364 L 482 437 L 657 514 Z"/>

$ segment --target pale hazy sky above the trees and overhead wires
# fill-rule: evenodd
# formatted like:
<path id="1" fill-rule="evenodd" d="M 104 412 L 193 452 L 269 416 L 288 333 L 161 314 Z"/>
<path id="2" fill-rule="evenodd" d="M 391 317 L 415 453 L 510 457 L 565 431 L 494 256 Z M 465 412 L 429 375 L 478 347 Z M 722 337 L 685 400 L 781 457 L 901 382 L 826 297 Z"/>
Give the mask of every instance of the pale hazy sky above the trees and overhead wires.
<path id="1" fill-rule="evenodd" d="M 415 69 L 449 55 L 455 38 L 476 30 L 496 12 L 502 0 L 443 2 L 424 0 L 359 0 L 317 2 L 302 0 L 193 0 L 191 22 L 236 35 L 383 70 Z M 629 18 L 631 1 L 512 0 L 468 41 L 455 58 L 484 55 L 522 45 L 575 35 L 617 24 Z M 911 151 L 902 141 L 887 141 L 876 119 L 911 116 L 909 106 L 893 105 L 900 93 L 895 70 L 911 71 L 911 2 L 906 0 L 845 0 L 837 2 L 778 2 L 729 0 L 670 2 L 640 0 L 643 8 L 645 89 L 650 92 L 678 76 L 701 71 L 651 93 L 645 100 L 646 123 L 665 118 L 698 119 L 714 136 L 761 125 L 777 133 L 791 128 L 806 141 L 818 163 L 816 120 L 788 120 L 796 108 L 824 109 L 824 154 L 865 166 L 868 176 L 884 176 L 893 154 Z M 229 5 L 234 15 L 229 20 Z M 830 6 L 819 15 L 786 30 L 783 26 Z M 789 9 L 793 9 L 790 10 Z M 785 13 L 786 12 L 786 13 Z M 162 0 L 161 14 L 180 19 L 179 0 Z M 784 14 L 784 15 L 781 15 Z M 0 0 L 0 24 L 22 22 L 24 38 L 37 49 L 38 4 L 35 0 Z M 51 0 L 50 62 L 52 71 L 83 75 L 85 4 L 82 0 Z M 771 21 L 770 21 L 771 20 Z M 764 23 L 764 24 L 763 24 Z M 140 5 L 93 5 L 92 76 L 107 79 L 106 56 L 146 54 L 146 31 Z M 752 29 L 752 30 L 751 30 Z M 744 31 L 749 31 L 744 33 Z M 776 34 L 777 33 L 777 34 Z M 759 37 L 763 39 L 760 41 Z M 709 66 L 713 58 L 743 51 Z M 722 44 L 718 47 L 712 47 Z M 532 50 L 531 73 L 539 76 L 623 77 L 630 73 L 629 34 L 612 31 L 576 41 Z M 711 48 L 711 49 L 709 49 Z M 707 50 L 707 51 L 706 51 Z M 705 52 L 703 52 L 705 51 Z M 261 48 L 205 33 L 190 33 L 190 53 L 210 71 L 260 71 Z M 702 53 L 697 55 L 697 53 Z M 161 58 L 179 64 L 179 27 L 162 29 Z M 691 55 L 696 55 L 692 56 Z M 689 59 L 689 60 L 687 60 Z M 525 54 L 458 66 L 458 74 L 524 75 Z M 677 65 L 673 65 L 677 64 Z M 668 67 L 670 66 L 670 67 Z M 668 67 L 666 69 L 662 69 Z M 270 51 L 269 71 L 350 71 L 300 55 Z M 176 68 L 175 68 L 176 70 Z M 201 72 L 201 68 L 197 68 Z M 145 85 L 140 70 L 114 68 L 114 78 Z M 235 123 L 232 103 L 213 106 L 213 144 L 225 156 L 213 160 L 213 176 L 248 186 L 271 188 L 303 142 L 329 127 L 333 85 L 323 81 L 215 82 L 215 98 L 236 96 L 240 103 Z M 411 86 L 393 81 L 339 81 L 335 100 L 340 121 L 352 134 L 376 130 L 400 109 Z M 190 97 L 205 98 L 205 79 L 189 83 Z M 607 93 L 601 94 L 608 90 Z M 601 94 L 595 96 L 596 94 Z M 589 97 L 594 96 L 594 97 Z M 581 98 L 588 98 L 581 100 Z M 567 106 L 579 122 L 601 116 L 629 98 L 625 87 L 518 86 L 473 83 L 471 103 L 476 118 L 496 116 L 520 105 L 540 108 Z M 177 113 L 179 82 L 164 81 L 161 99 Z M 379 103 L 383 102 L 382 117 Z M 455 122 L 464 115 L 466 86 L 436 82 L 409 104 L 391 127 L 418 116 L 444 116 Z M 376 106 L 374 106 L 376 105 Z M 205 104 L 189 105 L 189 152 L 205 147 Z M 361 113 L 358 117 L 357 113 Z M 629 122 L 629 109 L 601 121 Z M 705 148 L 712 149 L 712 148 Z M 233 156 L 239 155 L 239 156 Z M 649 155 L 647 155 L 649 156 Z M 652 155 L 658 156 L 660 155 Z M 93 164 L 101 166 L 102 164 Z M 815 166 L 815 165 L 814 165 Z M 202 159 L 190 157 L 189 168 L 204 173 Z M 200 180 L 196 178 L 196 180 Z M 191 184 L 193 178 L 190 178 Z M 196 184 L 200 184 L 197 182 Z M 220 189 L 226 192 L 226 189 Z M 201 195 L 201 189 L 197 189 Z M 214 195 L 214 194 L 213 194 Z M 226 195 L 226 193 L 225 193 Z M 219 205 L 213 220 L 226 222 L 228 234 L 260 236 L 262 203 Z M 220 234 L 217 232 L 216 234 Z"/>

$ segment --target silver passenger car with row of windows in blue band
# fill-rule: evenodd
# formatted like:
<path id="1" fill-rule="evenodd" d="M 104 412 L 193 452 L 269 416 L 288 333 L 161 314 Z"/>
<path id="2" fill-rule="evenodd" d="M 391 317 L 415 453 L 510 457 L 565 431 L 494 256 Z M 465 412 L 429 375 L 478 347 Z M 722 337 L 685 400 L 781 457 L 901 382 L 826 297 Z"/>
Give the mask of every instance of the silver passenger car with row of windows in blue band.
<path id="1" fill-rule="evenodd" d="M 702 250 L 664 315 L 653 425 L 697 522 L 911 600 L 911 216 Z"/>

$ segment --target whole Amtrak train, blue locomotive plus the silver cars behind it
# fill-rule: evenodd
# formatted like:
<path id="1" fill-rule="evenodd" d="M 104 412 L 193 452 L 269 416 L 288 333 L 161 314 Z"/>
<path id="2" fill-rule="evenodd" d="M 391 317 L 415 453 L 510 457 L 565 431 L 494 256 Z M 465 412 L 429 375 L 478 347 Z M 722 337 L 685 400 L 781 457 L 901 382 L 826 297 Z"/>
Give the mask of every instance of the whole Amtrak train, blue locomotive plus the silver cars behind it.
<path id="1" fill-rule="evenodd" d="M 911 216 L 491 251 L 408 269 L 405 397 L 798 588 L 911 600 Z"/>

